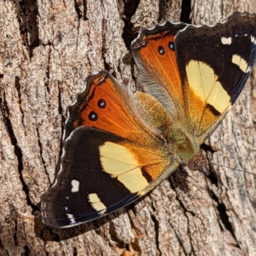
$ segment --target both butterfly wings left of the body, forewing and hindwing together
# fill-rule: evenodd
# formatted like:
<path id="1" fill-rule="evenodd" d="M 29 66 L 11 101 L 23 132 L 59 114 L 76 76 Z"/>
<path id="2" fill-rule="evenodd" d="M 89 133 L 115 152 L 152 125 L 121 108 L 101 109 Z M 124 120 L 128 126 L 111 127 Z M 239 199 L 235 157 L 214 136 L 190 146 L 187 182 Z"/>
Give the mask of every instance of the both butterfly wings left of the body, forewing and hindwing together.
<path id="1" fill-rule="evenodd" d="M 46 225 L 69 227 L 120 209 L 179 165 L 132 114 L 129 97 L 108 72 L 88 78 L 68 111 L 60 172 L 42 195 Z"/>

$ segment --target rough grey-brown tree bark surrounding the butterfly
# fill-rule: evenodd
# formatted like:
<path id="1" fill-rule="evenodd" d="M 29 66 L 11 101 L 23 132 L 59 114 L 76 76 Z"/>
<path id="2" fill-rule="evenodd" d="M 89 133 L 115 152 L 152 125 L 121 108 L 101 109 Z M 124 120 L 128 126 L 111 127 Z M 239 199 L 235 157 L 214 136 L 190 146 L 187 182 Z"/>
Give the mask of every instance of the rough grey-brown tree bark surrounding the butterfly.
<path id="1" fill-rule="evenodd" d="M 131 207 L 65 230 L 45 227 L 66 108 L 102 68 L 134 86 L 129 44 L 165 19 L 214 24 L 255 0 L 0 0 L 0 255 L 256 255 L 255 177 L 178 170 Z M 128 47 L 128 48 L 127 48 Z M 134 72 L 135 70 L 135 72 Z M 213 163 L 256 173 L 255 70 L 207 141 Z M 205 147 L 207 148 L 207 147 Z M 210 150 L 211 148 L 211 150 Z"/>

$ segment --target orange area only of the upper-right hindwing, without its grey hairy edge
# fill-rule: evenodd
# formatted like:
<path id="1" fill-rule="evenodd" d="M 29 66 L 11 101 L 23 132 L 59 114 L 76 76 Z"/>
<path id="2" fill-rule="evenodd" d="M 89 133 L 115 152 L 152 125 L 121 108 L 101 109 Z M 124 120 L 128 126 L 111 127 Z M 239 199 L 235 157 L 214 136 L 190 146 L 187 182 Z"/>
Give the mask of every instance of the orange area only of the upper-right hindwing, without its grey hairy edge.
<path id="1" fill-rule="evenodd" d="M 184 97 L 174 49 L 174 35 L 165 31 L 143 36 L 137 48 L 141 65 L 163 85 L 177 109 L 176 113 L 183 113 Z"/>

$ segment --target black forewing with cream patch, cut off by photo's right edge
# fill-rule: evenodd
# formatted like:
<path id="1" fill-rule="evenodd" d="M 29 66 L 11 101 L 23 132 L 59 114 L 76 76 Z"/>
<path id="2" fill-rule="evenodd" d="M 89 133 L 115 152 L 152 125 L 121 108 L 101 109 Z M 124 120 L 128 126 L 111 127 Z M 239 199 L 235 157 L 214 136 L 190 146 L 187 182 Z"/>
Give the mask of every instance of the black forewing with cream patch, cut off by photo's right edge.
<path id="1" fill-rule="evenodd" d="M 188 26 L 175 36 L 189 128 L 199 143 L 243 90 L 255 63 L 255 36 L 256 15 L 238 12 L 225 24 Z"/>

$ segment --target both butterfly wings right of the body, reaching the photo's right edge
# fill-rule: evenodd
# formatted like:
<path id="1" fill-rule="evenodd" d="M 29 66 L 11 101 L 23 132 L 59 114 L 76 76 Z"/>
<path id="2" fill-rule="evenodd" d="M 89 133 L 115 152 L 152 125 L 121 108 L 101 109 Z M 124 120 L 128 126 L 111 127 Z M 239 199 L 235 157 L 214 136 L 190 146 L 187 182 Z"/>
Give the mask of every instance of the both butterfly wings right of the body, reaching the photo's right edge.
<path id="1" fill-rule="evenodd" d="M 174 120 L 186 122 L 202 143 L 250 75 L 255 29 L 255 14 L 236 12 L 224 24 L 212 27 L 166 22 L 144 30 L 131 46 L 141 67 L 138 82 L 166 106 Z M 159 35 L 154 35 L 158 30 Z M 148 83 L 151 77 L 155 80 Z"/>

